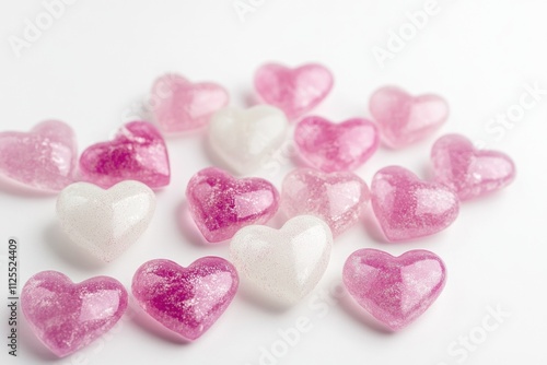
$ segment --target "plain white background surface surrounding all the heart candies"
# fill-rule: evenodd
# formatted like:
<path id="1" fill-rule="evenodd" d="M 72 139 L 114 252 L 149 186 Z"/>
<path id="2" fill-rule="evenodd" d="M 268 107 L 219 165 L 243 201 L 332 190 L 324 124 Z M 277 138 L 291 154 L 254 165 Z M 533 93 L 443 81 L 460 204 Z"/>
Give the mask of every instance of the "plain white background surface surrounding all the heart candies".
<path id="1" fill-rule="evenodd" d="M 25 19 L 44 12 L 42 1 L 5 1 L 0 5 L 1 130 L 26 131 L 40 120 L 70 123 L 79 149 L 108 139 L 147 95 L 153 80 L 178 72 L 194 81 L 216 81 L 245 106 L 256 68 L 266 61 L 298 66 L 326 64 L 336 85 L 316 114 L 333 120 L 369 116 L 371 93 L 397 84 L 412 93 L 446 97 L 451 117 L 437 136 L 404 151 L 381 150 L 357 173 L 370 182 L 379 168 L 399 164 L 420 176 L 430 174 L 429 150 L 445 132 L 459 132 L 510 154 L 517 178 L 502 192 L 463 204 L 446 231 L 414 243 L 386 244 L 371 220 L 336 242 L 333 259 L 317 290 L 286 311 L 272 311 L 235 297 L 220 320 L 198 341 L 181 344 L 152 327 L 146 316 L 125 320 L 74 356 L 55 360 L 20 322 L 16 361 L 21 364 L 258 364 L 260 346 L 280 340 L 278 330 L 310 318 L 279 364 L 545 364 L 547 95 L 514 125 L 489 125 L 515 109 L 526 85 L 547 89 L 547 5 L 544 0 L 439 1 L 439 11 L 403 50 L 381 68 L 373 47 L 386 47 L 389 31 L 407 23 L 406 12 L 424 1 L 266 0 L 242 21 L 232 0 L 106 1 L 79 0 L 67 5 L 49 30 L 16 57 L 10 36 L 23 37 Z M 490 129 L 488 129 L 490 126 Z M 494 128 L 493 130 L 491 128 Z M 135 270 L 153 258 L 183 266 L 195 259 L 228 257 L 226 245 L 203 246 L 196 228 L 179 224 L 190 176 L 210 164 L 205 132 L 168 138 L 172 182 L 158 193 L 150 228 L 123 257 L 101 264 L 58 232 L 55 197 L 0 190 L 0 239 L 20 239 L 21 284 L 42 270 L 58 270 L 74 281 L 107 274 L 127 287 Z M 281 173 L 265 175 L 278 187 L 294 164 L 279 160 Z M 258 173 L 261 174 L 260 172 Z M 366 223 L 368 222 L 368 223 Z M 278 222 L 279 223 L 279 222 Z M 345 259 L 373 247 L 394 255 L 424 248 L 440 255 L 449 269 L 444 292 L 416 322 L 385 333 L 361 316 L 351 302 L 330 304 L 317 296 L 340 281 Z M 5 261 L 2 262 L 5 275 Z M 5 278 L 5 276 L 3 276 Z M 0 281 L 7 286 L 7 280 Z M 2 289 L 2 293 L 4 290 Z M 328 298 L 328 297 L 327 297 Z M 330 299 L 328 299 L 330 301 Z M 481 333 L 489 307 L 509 313 L 484 342 L 464 337 Z M 5 364 L 7 308 L 2 305 L 1 362 Z M 20 315 L 21 316 L 21 315 Z M 493 323 L 494 321 L 492 321 Z M 455 341 L 455 342 L 454 342 Z M 454 352 L 449 352 L 452 346 Z M 11 357 L 11 356 L 10 356 Z M 274 364 L 275 362 L 269 362 Z M 263 361 L 264 364 L 268 362 Z"/>

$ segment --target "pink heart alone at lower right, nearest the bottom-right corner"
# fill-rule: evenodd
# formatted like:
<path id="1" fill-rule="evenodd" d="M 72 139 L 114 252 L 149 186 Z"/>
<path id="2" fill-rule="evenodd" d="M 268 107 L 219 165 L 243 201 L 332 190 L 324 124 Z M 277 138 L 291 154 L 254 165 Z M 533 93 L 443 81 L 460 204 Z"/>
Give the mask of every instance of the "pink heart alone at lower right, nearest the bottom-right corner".
<path id="1" fill-rule="evenodd" d="M 361 307 L 392 330 L 399 330 L 441 294 L 446 268 L 441 258 L 426 250 L 393 257 L 365 248 L 346 260 L 342 280 Z"/>

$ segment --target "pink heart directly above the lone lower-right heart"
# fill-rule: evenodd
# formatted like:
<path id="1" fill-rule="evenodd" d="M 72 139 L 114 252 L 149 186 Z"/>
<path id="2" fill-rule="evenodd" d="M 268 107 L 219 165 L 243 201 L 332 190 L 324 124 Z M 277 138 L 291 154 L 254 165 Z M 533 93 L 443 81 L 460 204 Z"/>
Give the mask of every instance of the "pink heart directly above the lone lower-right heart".
<path id="1" fill-rule="evenodd" d="M 419 180 L 399 166 L 384 167 L 374 175 L 371 202 L 389 242 L 438 233 L 451 225 L 459 211 L 459 200 L 450 188 Z"/>

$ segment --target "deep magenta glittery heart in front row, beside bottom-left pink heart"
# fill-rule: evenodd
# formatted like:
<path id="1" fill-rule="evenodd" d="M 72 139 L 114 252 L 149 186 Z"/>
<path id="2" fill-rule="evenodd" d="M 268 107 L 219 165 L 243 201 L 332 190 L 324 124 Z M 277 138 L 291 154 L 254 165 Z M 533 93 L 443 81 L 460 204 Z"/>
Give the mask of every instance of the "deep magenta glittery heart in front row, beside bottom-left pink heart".
<path id="1" fill-rule="evenodd" d="M 160 259 L 137 269 L 131 289 L 146 313 L 193 341 L 224 313 L 238 282 L 235 268 L 220 257 L 203 257 L 188 268 Z"/>

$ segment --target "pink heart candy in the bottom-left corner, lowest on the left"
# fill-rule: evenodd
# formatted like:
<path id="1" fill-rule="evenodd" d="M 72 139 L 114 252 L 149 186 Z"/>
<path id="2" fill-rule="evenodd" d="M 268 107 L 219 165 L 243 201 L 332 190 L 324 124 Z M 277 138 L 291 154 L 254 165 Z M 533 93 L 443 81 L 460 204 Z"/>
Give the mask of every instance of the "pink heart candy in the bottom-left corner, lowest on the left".
<path id="1" fill-rule="evenodd" d="M 62 357 L 116 325 L 127 308 L 127 291 L 108 276 L 74 284 L 60 272 L 43 271 L 26 282 L 21 306 L 36 337 Z"/>

